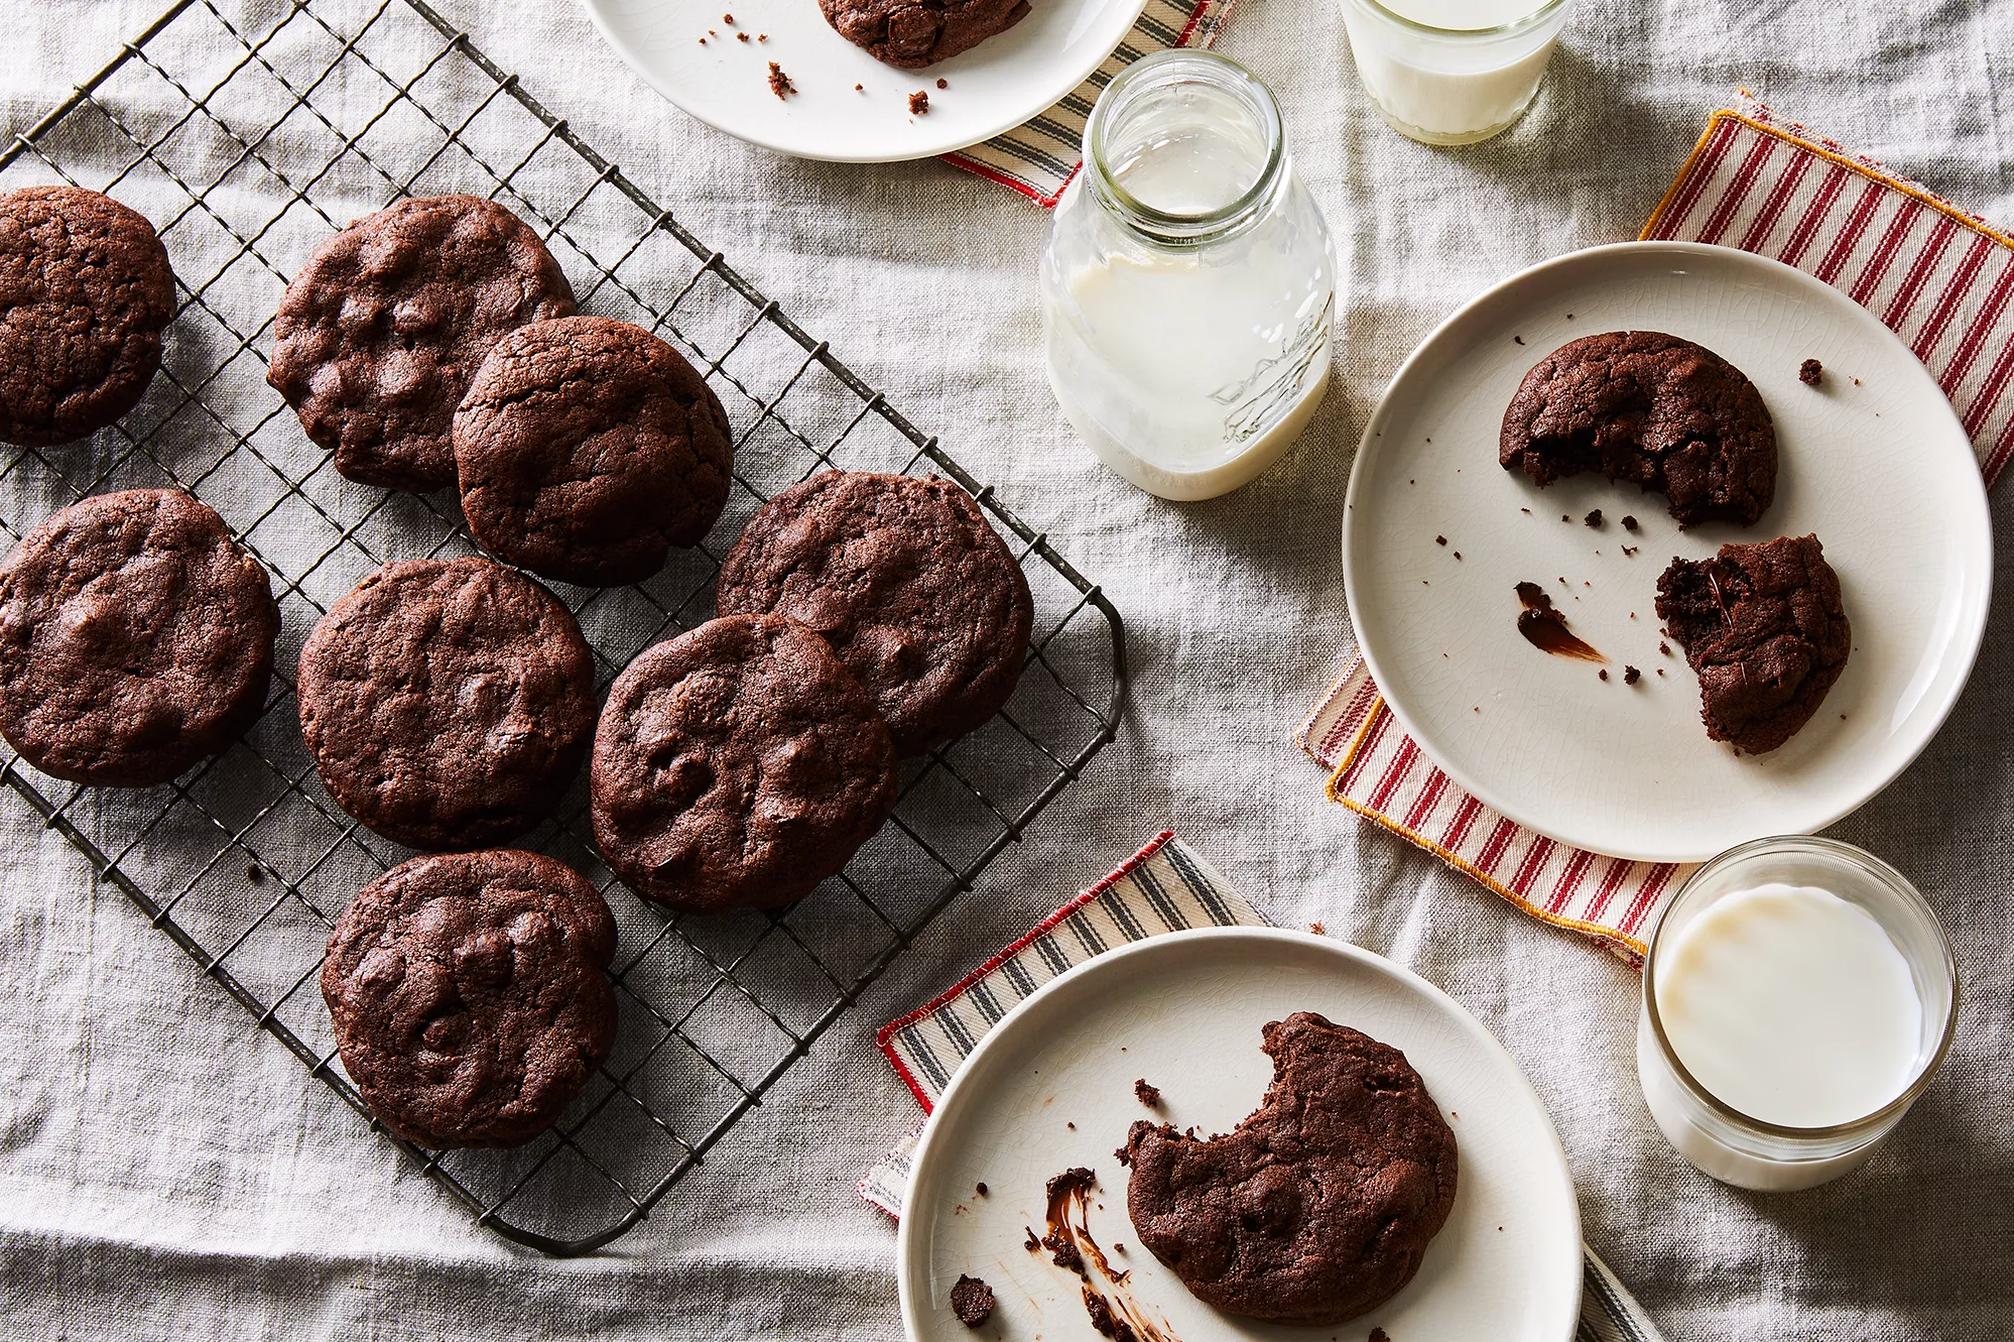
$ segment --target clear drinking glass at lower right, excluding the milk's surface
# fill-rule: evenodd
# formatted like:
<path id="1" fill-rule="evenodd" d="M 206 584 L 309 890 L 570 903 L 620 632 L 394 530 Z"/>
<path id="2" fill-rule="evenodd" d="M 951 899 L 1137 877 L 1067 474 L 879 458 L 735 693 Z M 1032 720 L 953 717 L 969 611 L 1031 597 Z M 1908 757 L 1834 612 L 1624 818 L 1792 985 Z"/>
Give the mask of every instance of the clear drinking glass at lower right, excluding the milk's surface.
<path id="1" fill-rule="evenodd" d="M 1923 1010 L 1909 1082 L 1893 1100 L 1849 1122 L 1799 1128 L 1740 1112 L 1686 1070 L 1658 1018 L 1660 947 L 1720 899 L 1766 883 L 1815 885 L 1859 905 L 1909 965 Z M 1944 1064 L 1956 1022 L 1958 965 L 1944 925 L 1901 873 L 1831 838 L 1758 838 L 1700 866 L 1658 919 L 1643 959 L 1637 1080 L 1658 1128 L 1702 1173 L 1744 1189 L 1809 1189 L 1861 1165 L 1901 1122 Z"/>

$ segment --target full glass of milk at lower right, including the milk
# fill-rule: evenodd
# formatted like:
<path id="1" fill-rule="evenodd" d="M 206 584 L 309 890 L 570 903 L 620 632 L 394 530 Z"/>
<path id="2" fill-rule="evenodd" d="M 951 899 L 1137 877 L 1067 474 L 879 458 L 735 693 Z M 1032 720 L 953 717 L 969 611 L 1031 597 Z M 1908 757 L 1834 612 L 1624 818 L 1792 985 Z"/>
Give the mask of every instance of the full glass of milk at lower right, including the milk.
<path id="1" fill-rule="evenodd" d="M 1901 873 L 1829 838 L 1700 866 L 1651 933 L 1637 1078 L 1694 1167 L 1809 1189 L 1863 1163 L 1952 1046 L 1958 967 Z"/>

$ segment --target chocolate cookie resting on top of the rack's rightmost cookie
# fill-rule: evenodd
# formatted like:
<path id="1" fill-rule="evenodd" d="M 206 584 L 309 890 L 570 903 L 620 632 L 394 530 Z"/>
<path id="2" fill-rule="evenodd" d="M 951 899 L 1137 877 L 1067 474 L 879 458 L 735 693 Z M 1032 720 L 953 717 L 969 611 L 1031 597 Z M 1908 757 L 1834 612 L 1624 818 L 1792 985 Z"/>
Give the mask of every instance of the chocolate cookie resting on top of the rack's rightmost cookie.
<path id="1" fill-rule="evenodd" d="M 896 800 L 872 699 L 775 615 L 707 621 L 632 661 L 608 687 L 590 778 L 616 875 L 701 913 L 804 899 Z"/>

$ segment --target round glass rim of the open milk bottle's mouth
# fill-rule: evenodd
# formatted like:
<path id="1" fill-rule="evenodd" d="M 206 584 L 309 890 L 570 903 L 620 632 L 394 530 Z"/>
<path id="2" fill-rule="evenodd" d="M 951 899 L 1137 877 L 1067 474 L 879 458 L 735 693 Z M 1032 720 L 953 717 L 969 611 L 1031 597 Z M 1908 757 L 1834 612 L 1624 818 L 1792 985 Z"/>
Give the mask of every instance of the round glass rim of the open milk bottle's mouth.
<path id="1" fill-rule="evenodd" d="M 1170 66 L 1180 66 L 1206 83 L 1214 83 L 1241 95 L 1247 107 L 1251 107 L 1257 115 L 1259 129 L 1267 137 L 1267 159 L 1253 177 L 1251 185 L 1239 193 L 1237 199 L 1212 210 L 1180 212 L 1150 206 L 1128 191 L 1112 171 L 1112 165 L 1106 161 L 1106 137 L 1112 131 L 1114 119 L 1128 111 L 1134 99 L 1152 91 L 1154 85 L 1150 81 Z M 1118 212 L 1120 218 L 1146 232 L 1156 242 L 1178 246 L 1212 242 L 1235 230 L 1257 212 L 1259 204 L 1265 202 L 1279 183 L 1285 161 L 1287 133 L 1279 115 L 1279 101 L 1273 97 L 1273 91 L 1267 89 L 1265 81 L 1249 69 L 1214 50 L 1176 46 L 1134 60 L 1120 71 L 1110 85 L 1106 85 L 1104 95 L 1092 107 L 1092 115 L 1084 123 L 1084 167 L 1094 193 L 1102 204 Z"/>

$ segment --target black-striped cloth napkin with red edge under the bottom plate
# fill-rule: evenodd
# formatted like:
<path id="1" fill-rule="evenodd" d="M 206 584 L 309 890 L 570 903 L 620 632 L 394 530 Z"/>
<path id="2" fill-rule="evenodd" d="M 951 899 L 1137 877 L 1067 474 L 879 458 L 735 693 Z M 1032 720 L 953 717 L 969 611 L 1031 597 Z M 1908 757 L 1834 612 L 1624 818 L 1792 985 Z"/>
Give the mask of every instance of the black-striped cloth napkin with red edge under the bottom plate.
<path id="1" fill-rule="evenodd" d="M 1071 965 L 1114 945 L 1184 927 L 1265 923 L 1216 868 L 1172 830 L 1162 830 L 1118 870 L 1035 923 L 934 1001 L 882 1026 L 880 1048 L 928 1112 L 987 1030 Z M 902 1191 L 920 1134 L 918 1124 L 858 1185 L 860 1197 L 890 1217 L 902 1215 Z M 1662 1342 L 1643 1308 L 1591 1249 L 1583 1269 L 1575 1342 Z"/>

